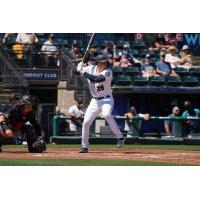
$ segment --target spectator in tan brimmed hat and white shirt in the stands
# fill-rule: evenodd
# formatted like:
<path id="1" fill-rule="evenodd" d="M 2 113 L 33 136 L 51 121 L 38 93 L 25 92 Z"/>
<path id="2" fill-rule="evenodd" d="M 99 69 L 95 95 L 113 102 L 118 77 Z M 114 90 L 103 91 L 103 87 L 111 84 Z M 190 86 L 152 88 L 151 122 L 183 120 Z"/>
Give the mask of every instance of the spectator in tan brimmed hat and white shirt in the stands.
<path id="1" fill-rule="evenodd" d="M 178 58 L 178 56 L 175 56 L 176 50 L 176 47 L 170 46 L 167 50 L 168 53 L 165 56 L 165 62 L 170 63 L 172 69 L 176 68 L 176 66 L 181 63 L 181 59 Z"/>

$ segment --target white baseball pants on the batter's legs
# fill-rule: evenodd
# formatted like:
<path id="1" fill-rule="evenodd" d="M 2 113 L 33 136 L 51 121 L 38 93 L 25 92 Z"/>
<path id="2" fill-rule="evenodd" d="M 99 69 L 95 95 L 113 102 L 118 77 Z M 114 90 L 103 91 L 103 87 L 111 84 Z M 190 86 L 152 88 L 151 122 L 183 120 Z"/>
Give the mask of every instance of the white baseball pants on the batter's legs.
<path id="1" fill-rule="evenodd" d="M 89 145 L 89 130 L 96 116 L 102 112 L 102 116 L 108 122 L 112 132 L 116 135 L 117 139 L 123 138 L 123 134 L 119 130 L 111 113 L 113 109 L 113 99 L 105 98 L 101 100 L 92 99 L 85 113 L 85 118 L 82 127 L 82 147 L 88 148 Z"/>

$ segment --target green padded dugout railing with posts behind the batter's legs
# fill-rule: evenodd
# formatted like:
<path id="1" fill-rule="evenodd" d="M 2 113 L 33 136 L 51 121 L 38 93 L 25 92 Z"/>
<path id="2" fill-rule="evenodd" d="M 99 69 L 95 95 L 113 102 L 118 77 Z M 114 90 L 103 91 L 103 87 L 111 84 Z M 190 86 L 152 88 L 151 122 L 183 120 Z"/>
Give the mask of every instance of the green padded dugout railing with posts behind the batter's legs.
<path id="1" fill-rule="evenodd" d="M 139 121 L 144 120 L 143 117 L 134 117 L 133 119 L 127 119 L 124 116 L 114 116 L 115 119 L 121 119 L 121 120 L 129 120 L 132 123 L 132 136 L 133 137 L 141 137 L 141 133 L 139 130 Z M 69 116 L 65 115 L 55 115 L 53 117 L 53 136 L 57 136 L 58 132 L 58 125 L 57 125 L 57 120 L 58 119 L 71 119 Z M 162 116 L 151 116 L 150 119 L 152 120 L 171 120 L 171 121 L 176 121 L 176 122 L 185 122 L 187 120 L 200 120 L 200 117 L 187 117 L 187 118 L 182 118 L 182 117 L 162 117 Z M 103 117 L 96 117 L 95 120 L 104 120 Z M 91 137 L 96 137 L 95 133 L 95 128 L 92 128 L 92 131 L 90 132 Z M 176 124 L 176 129 L 174 133 L 174 137 L 183 137 L 182 133 L 182 123 Z"/>

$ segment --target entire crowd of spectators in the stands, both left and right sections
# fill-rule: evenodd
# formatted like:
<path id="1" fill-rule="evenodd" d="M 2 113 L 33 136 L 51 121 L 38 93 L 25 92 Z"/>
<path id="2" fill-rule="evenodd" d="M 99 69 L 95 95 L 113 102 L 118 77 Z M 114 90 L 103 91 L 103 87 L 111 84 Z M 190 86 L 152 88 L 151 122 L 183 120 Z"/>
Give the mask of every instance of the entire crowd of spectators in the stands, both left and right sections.
<path id="1" fill-rule="evenodd" d="M 43 43 L 40 42 L 41 35 Z M 144 44 L 142 47 L 134 47 L 131 46 L 130 41 L 121 44 L 117 44 L 117 41 L 103 41 L 100 44 L 93 42 L 87 55 L 87 64 L 94 64 L 96 55 L 102 53 L 108 57 L 110 66 L 113 68 L 137 67 L 139 75 L 147 78 L 179 76 L 176 68 L 189 70 L 195 66 L 191 49 L 188 45 L 182 45 L 180 49 L 175 34 L 156 34 L 151 47 L 147 47 L 144 41 L 141 43 Z M 34 67 L 35 62 L 38 61 L 44 68 L 60 65 L 61 43 L 55 34 L 6 33 L 1 39 L 1 44 L 11 47 L 17 60 L 26 58 L 31 63 L 29 67 Z M 75 63 L 80 62 L 85 52 L 83 45 L 77 40 L 71 41 L 71 46 L 68 46 L 67 50 Z"/>

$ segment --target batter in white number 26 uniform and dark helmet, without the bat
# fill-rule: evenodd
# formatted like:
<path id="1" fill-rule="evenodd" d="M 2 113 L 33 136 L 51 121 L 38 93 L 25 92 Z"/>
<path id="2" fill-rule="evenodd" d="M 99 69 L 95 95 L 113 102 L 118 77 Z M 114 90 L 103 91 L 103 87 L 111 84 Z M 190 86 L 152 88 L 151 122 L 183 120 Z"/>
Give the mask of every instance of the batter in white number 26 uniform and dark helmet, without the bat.
<path id="1" fill-rule="evenodd" d="M 89 129 L 96 116 L 100 113 L 102 113 L 112 132 L 116 135 L 117 147 L 122 147 L 125 141 L 123 134 L 111 115 L 114 101 L 111 90 L 112 70 L 109 68 L 108 59 L 100 54 L 96 57 L 96 63 L 97 65 L 85 67 L 84 63 L 81 62 L 77 66 L 77 71 L 87 79 L 89 90 L 93 97 L 83 121 L 80 153 L 88 152 Z"/>

